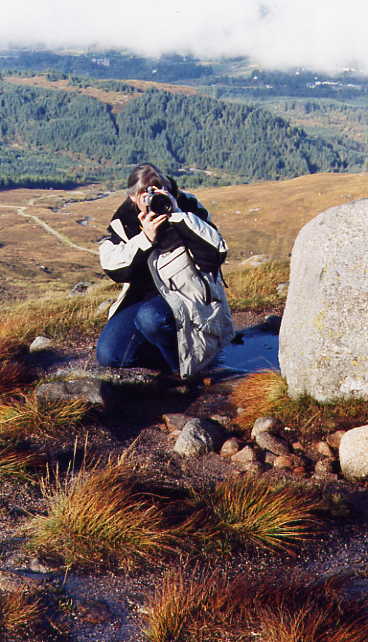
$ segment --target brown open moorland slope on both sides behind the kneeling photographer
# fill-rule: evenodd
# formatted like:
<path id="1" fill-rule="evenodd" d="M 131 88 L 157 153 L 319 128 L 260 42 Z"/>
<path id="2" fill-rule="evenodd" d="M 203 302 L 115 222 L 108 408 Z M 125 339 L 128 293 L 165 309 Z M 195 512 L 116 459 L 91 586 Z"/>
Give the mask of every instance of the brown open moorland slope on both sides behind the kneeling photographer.
<path id="1" fill-rule="evenodd" d="M 201 189 L 196 194 L 228 242 L 225 272 L 229 272 L 251 254 L 287 259 L 307 221 L 333 205 L 368 198 L 368 183 L 366 174 L 315 174 Z M 64 291 L 80 280 L 104 278 L 98 240 L 124 195 L 124 191 L 101 193 L 98 186 L 0 192 L 1 298 Z"/>

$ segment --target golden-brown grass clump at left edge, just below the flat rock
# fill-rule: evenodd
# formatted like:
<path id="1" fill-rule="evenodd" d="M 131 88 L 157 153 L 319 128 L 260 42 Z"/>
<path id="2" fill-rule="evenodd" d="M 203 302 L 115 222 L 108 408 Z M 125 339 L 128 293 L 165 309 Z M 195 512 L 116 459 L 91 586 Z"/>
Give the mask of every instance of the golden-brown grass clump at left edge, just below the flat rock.
<path id="1" fill-rule="evenodd" d="M 12 402 L 0 404 L 0 437 L 56 438 L 74 435 L 82 424 L 90 405 L 81 399 L 48 401 L 35 393 L 22 395 Z"/>

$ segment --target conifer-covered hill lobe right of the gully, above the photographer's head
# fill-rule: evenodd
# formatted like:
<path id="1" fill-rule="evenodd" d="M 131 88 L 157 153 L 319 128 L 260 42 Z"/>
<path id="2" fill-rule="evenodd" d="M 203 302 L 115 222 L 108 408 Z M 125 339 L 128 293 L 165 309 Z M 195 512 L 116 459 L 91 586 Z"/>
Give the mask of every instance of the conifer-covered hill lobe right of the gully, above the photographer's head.
<path id="1" fill-rule="evenodd" d="M 255 106 L 148 92 L 117 116 L 122 162 L 220 167 L 245 181 L 341 171 L 349 161 Z"/>

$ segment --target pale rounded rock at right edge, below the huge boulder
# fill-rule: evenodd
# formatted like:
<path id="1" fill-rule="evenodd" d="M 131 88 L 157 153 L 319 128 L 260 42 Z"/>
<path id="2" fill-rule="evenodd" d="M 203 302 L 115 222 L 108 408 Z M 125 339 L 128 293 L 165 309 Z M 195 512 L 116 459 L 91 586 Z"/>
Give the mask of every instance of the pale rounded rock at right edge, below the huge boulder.
<path id="1" fill-rule="evenodd" d="M 344 477 L 350 481 L 368 478 L 368 426 L 348 430 L 339 448 L 340 466 Z"/>

